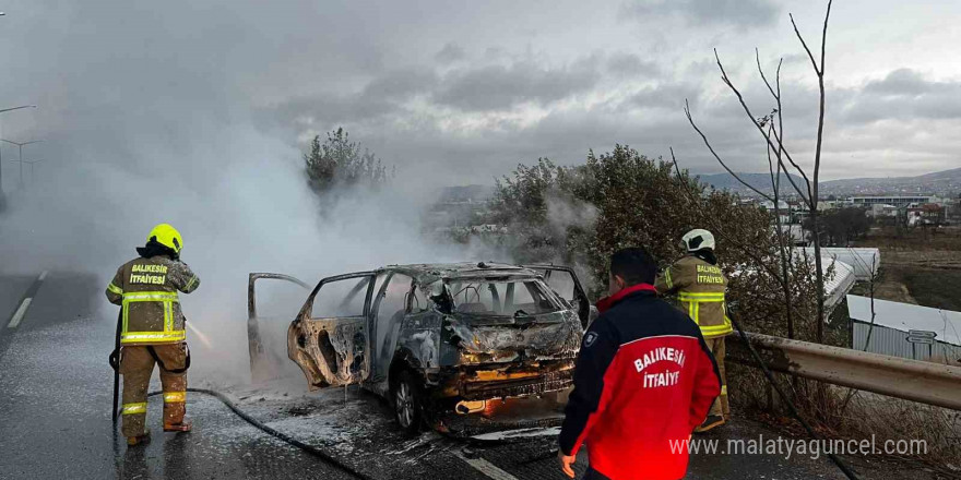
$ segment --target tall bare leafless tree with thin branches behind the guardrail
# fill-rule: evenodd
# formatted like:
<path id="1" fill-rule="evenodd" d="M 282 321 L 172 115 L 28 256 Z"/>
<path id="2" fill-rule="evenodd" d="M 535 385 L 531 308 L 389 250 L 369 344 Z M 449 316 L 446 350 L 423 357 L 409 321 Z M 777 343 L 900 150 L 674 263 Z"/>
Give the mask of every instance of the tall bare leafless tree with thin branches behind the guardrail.
<path id="1" fill-rule="evenodd" d="M 771 109 L 771 112 L 768 115 L 761 116 L 761 117 L 756 116 L 751 111 L 750 107 L 745 101 L 744 96 L 741 95 L 740 91 L 734 85 L 734 83 L 727 76 L 727 72 L 724 69 L 724 64 L 721 62 L 721 57 L 717 55 L 717 49 L 714 49 L 714 59 L 717 63 L 717 69 L 721 71 L 722 82 L 724 82 L 724 84 L 727 85 L 727 87 L 731 89 L 731 92 L 734 93 L 734 95 L 737 97 L 738 101 L 740 103 L 740 106 L 744 109 L 745 115 L 748 117 L 748 119 L 755 125 L 755 129 L 758 131 L 758 133 L 761 135 L 761 137 L 764 139 L 764 142 L 766 142 L 767 148 L 768 148 L 768 163 L 769 163 L 768 165 L 769 165 L 769 170 L 771 171 L 771 182 L 772 182 L 772 187 L 773 187 L 773 191 L 774 191 L 773 195 L 768 195 L 767 193 L 764 193 L 760 189 L 749 184 L 744 179 L 741 179 L 737 173 L 735 173 L 727 166 L 727 164 L 721 158 L 721 156 L 717 154 L 717 152 L 714 149 L 714 147 L 711 145 L 711 142 L 708 140 L 708 136 L 703 133 L 703 131 L 701 131 L 701 129 L 698 128 L 697 123 L 695 122 L 693 118 L 691 117 L 690 105 L 688 104 L 687 100 L 685 100 L 685 108 L 684 108 L 684 112 L 685 112 L 685 116 L 687 116 L 688 122 L 690 122 L 690 124 L 695 129 L 695 131 L 698 132 L 698 134 L 701 136 L 701 140 L 704 142 L 704 145 L 708 147 L 708 149 L 711 152 L 711 155 L 714 156 L 714 158 L 717 160 L 717 163 L 721 164 L 721 166 L 728 173 L 731 173 L 738 182 L 740 182 L 741 184 L 744 184 L 745 187 L 747 187 L 748 189 L 750 189 L 751 191 L 754 191 L 755 193 L 757 193 L 761 197 L 763 197 L 774 204 L 774 215 L 775 215 L 775 217 L 779 217 L 779 219 L 776 220 L 776 225 L 778 225 L 778 232 L 779 232 L 778 233 L 779 235 L 779 243 L 780 243 L 781 251 L 782 251 L 781 261 L 782 261 L 782 264 L 784 264 L 782 266 L 782 275 L 784 275 L 785 279 L 787 278 L 787 272 L 786 272 L 787 266 L 786 265 L 790 263 L 790 262 L 787 262 L 787 260 L 790 260 L 790 259 L 788 259 L 788 255 L 786 252 L 786 248 L 784 245 L 785 241 L 784 241 L 783 232 L 781 231 L 781 226 L 780 226 L 780 206 L 778 205 L 778 203 L 779 203 L 778 201 L 780 200 L 780 192 L 779 192 L 780 178 L 781 178 L 782 171 L 784 171 L 784 172 L 791 171 L 791 169 L 787 168 L 788 164 L 791 165 L 791 167 L 795 171 L 797 171 L 800 175 L 800 178 L 803 179 L 803 183 L 800 183 L 800 184 L 798 184 L 798 182 L 795 181 L 790 173 L 787 175 L 786 178 L 787 178 L 787 181 L 791 183 L 791 187 L 794 189 L 795 192 L 797 192 L 798 196 L 800 197 L 802 203 L 805 206 L 805 209 L 807 209 L 808 218 L 810 218 L 811 231 L 814 232 L 812 236 L 814 236 L 814 248 L 815 248 L 815 275 L 817 277 L 816 279 L 817 279 L 817 286 L 818 286 L 818 288 L 817 288 L 817 290 L 818 290 L 818 301 L 817 301 L 817 311 L 818 311 L 817 339 L 818 339 L 818 341 L 823 341 L 823 339 L 824 339 L 823 323 L 824 323 L 824 310 L 826 310 L 824 309 L 824 272 L 823 272 L 823 268 L 821 265 L 822 262 L 821 262 L 820 238 L 817 233 L 819 231 L 819 228 L 818 228 L 818 226 L 819 226 L 818 179 L 819 179 L 820 169 L 821 169 L 821 147 L 823 145 L 823 132 L 824 132 L 824 51 L 826 51 L 827 37 L 828 37 L 828 20 L 830 19 L 830 15 L 831 15 L 832 1 L 833 0 L 828 1 L 828 9 L 827 9 L 827 12 L 824 13 L 824 24 L 823 24 L 823 29 L 821 32 L 820 59 L 815 59 L 814 53 L 811 52 L 810 48 L 808 48 L 807 41 L 805 41 L 804 36 L 800 35 L 800 32 L 797 28 L 797 23 L 794 21 L 794 15 L 790 15 L 791 16 L 791 24 L 794 27 L 794 33 L 797 36 L 797 39 L 800 41 L 802 47 L 804 47 L 804 50 L 807 52 L 807 56 L 811 62 L 811 67 L 814 68 L 814 72 L 818 79 L 818 93 L 819 93 L 818 130 L 817 130 L 818 133 L 817 133 L 817 143 L 815 145 L 815 152 L 814 152 L 814 168 L 811 169 L 810 176 L 808 176 L 807 171 L 805 171 L 805 169 L 800 168 L 800 166 L 797 164 L 797 161 L 795 161 L 794 156 L 791 154 L 791 151 L 787 148 L 785 141 L 784 141 L 783 105 L 781 101 L 781 62 L 778 63 L 778 72 L 774 76 L 774 84 L 772 85 L 771 82 L 768 80 L 767 75 L 764 74 L 763 69 L 761 68 L 760 53 L 758 52 L 757 49 L 755 50 L 755 56 L 756 56 L 757 64 L 758 64 L 758 73 L 760 74 L 761 80 L 763 80 L 764 85 L 768 88 L 768 92 L 771 94 L 771 97 L 774 100 L 774 108 Z M 771 158 L 772 155 L 773 155 L 773 160 L 776 160 L 776 167 L 774 166 L 775 161 L 773 161 Z M 776 176 L 774 173 L 775 170 L 776 170 Z M 791 297 L 790 290 L 785 291 L 785 299 L 786 299 L 785 301 L 788 302 L 788 309 L 787 309 L 788 312 L 791 311 L 790 297 Z M 793 334 L 793 322 L 791 320 L 788 320 L 788 325 L 790 325 L 788 328 L 791 329 L 791 333 Z"/>

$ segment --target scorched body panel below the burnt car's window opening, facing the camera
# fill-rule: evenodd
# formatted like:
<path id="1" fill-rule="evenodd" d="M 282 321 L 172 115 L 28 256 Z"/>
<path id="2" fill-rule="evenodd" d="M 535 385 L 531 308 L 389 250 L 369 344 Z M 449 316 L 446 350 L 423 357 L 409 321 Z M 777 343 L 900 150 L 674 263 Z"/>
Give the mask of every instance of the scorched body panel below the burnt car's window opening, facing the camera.
<path id="1" fill-rule="evenodd" d="M 447 328 L 470 363 L 573 358 L 581 345 L 580 320 L 565 310 L 512 321 L 510 317 L 447 317 Z"/>

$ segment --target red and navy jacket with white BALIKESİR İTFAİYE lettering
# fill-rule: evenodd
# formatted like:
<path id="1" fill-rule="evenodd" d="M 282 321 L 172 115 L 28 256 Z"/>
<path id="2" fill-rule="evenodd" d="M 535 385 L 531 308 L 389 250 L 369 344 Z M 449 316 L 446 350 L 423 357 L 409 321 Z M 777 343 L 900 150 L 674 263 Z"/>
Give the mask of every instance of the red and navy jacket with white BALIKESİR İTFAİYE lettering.
<path id="1" fill-rule="evenodd" d="M 586 443 L 591 468 L 613 480 L 679 479 L 686 442 L 721 392 L 698 326 L 648 284 L 597 302 L 584 333 L 560 451 Z"/>

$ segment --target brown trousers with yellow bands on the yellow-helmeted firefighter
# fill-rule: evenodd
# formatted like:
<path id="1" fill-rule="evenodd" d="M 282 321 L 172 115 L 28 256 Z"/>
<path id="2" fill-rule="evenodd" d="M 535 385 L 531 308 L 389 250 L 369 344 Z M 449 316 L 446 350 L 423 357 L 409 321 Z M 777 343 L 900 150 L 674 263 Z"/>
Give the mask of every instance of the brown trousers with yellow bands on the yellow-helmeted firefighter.
<path id="1" fill-rule="evenodd" d="M 183 421 L 187 412 L 187 344 L 183 343 L 120 349 L 120 374 L 123 375 L 123 422 L 120 431 L 123 436 L 145 433 L 146 394 L 157 360 L 161 362 L 161 384 L 164 387 L 164 423 Z"/>

